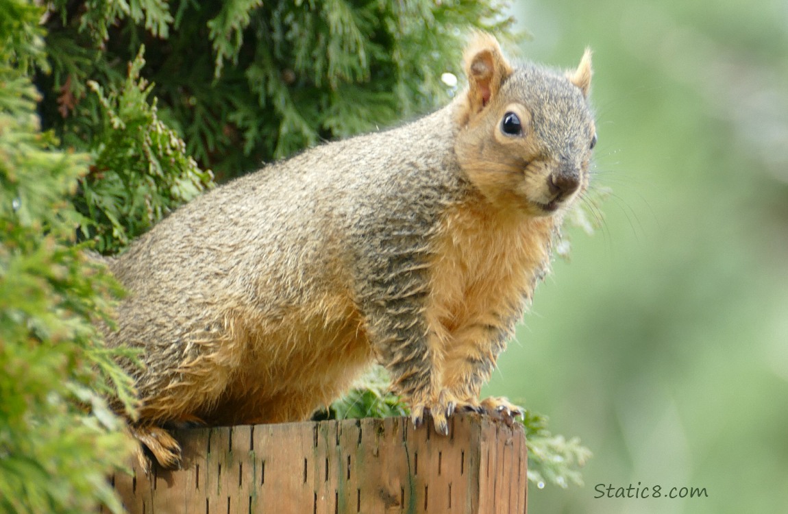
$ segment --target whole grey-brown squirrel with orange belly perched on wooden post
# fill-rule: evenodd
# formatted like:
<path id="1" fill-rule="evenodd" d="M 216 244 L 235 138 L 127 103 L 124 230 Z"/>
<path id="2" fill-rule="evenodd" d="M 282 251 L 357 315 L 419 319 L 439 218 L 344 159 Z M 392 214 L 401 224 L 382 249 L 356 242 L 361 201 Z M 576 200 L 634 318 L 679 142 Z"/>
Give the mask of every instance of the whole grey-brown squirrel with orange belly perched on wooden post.
<path id="1" fill-rule="evenodd" d="M 478 397 L 588 185 L 591 58 L 512 65 L 478 34 L 463 64 L 448 106 L 216 188 L 110 259 L 106 339 L 143 350 L 130 430 L 160 464 L 166 426 L 307 419 L 376 360 L 439 433 L 522 412 Z"/>

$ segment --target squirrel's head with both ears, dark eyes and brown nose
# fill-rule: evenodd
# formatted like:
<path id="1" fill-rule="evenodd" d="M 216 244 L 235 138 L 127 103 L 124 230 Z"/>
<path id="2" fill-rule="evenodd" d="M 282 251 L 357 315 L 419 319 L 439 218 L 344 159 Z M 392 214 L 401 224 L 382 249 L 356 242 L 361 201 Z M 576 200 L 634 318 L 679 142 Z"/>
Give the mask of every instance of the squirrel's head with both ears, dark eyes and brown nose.
<path id="1" fill-rule="evenodd" d="M 464 65 L 455 152 L 470 182 L 496 206 L 531 216 L 570 205 L 588 186 L 597 142 L 588 103 L 591 52 L 562 74 L 511 65 L 492 35 L 478 34 Z"/>

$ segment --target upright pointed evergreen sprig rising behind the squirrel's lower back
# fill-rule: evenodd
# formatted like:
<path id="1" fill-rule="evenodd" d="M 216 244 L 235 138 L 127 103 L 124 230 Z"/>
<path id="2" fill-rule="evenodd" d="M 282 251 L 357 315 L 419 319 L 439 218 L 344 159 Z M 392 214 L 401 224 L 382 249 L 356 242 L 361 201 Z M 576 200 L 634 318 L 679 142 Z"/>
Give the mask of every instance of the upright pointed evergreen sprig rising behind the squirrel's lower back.
<path id="1" fill-rule="evenodd" d="M 96 240 L 99 251 L 123 248 L 213 184 L 210 171 L 199 169 L 184 141 L 158 119 L 156 99 L 148 104 L 151 86 L 139 78 L 143 50 L 129 65 L 121 91 L 105 95 L 98 83 L 87 83 L 102 112 L 90 141 L 91 173 L 81 182 L 76 206 L 86 216 L 84 237 Z"/>

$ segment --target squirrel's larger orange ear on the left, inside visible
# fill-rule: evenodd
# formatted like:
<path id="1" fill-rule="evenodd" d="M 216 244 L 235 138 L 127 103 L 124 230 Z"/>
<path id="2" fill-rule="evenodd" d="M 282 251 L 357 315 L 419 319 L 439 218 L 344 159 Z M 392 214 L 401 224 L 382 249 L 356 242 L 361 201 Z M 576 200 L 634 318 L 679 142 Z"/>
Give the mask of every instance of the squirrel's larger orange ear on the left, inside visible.
<path id="1" fill-rule="evenodd" d="M 504 78 L 511 75 L 511 65 L 501 54 L 498 41 L 485 32 L 477 32 L 463 54 L 468 77 L 470 113 L 476 114 L 498 94 Z"/>

